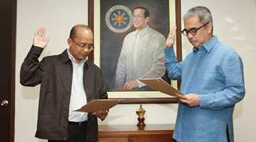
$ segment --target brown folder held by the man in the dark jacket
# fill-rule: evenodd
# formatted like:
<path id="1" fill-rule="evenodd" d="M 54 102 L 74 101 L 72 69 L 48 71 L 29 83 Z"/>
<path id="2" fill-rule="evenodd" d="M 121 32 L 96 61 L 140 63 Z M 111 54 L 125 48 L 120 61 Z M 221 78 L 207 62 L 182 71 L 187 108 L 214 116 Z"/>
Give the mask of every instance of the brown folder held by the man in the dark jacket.
<path id="1" fill-rule="evenodd" d="M 119 104 L 122 99 L 92 99 L 91 102 L 88 102 L 81 109 L 75 111 L 82 112 L 97 112 L 97 111 L 106 111 L 115 105 Z"/>

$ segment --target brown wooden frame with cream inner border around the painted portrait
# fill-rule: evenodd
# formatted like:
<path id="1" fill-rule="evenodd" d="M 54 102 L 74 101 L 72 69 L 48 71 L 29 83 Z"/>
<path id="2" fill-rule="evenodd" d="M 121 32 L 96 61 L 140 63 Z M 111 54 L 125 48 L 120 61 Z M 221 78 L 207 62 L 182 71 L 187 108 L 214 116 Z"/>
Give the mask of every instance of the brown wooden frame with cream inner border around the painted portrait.
<path id="1" fill-rule="evenodd" d="M 160 0 L 159 0 L 160 1 Z M 95 46 L 100 47 L 100 32 L 97 31 L 100 26 L 99 18 L 100 18 L 100 12 L 97 13 L 100 9 L 100 0 L 90 0 L 88 1 L 88 25 L 95 33 Z M 170 14 L 174 18 L 176 23 L 172 23 L 173 25 L 176 24 L 177 31 L 181 31 L 181 1 L 180 0 L 169 0 L 169 9 L 173 9 L 173 11 L 169 11 L 169 13 L 175 13 Z M 174 10 L 175 9 L 175 10 Z M 96 20 L 95 20 L 96 19 Z M 98 21 L 97 21 L 98 19 Z M 170 20 L 171 21 L 171 20 Z M 96 23 L 96 24 L 95 24 Z M 171 24 L 170 28 L 171 29 Z M 177 53 L 177 60 L 181 61 L 181 33 L 177 32 L 176 34 L 177 40 L 176 40 L 176 53 Z M 97 43 L 99 43 L 97 45 Z M 95 54 L 99 53 L 99 54 Z M 100 60 L 99 57 L 95 57 L 95 55 L 98 55 L 100 57 L 100 49 L 97 50 L 97 48 L 94 50 L 94 52 L 91 53 L 89 56 L 89 60 L 92 62 L 95 62 L 96 65 L 100 66 Z M 180 88 L 180 81 L 176 82 L 176 87 Z M 123 99 L 121 104 L 163 104 L 163 103 L 177 103 L 178 98 L 176 97 L 169 97 L 166 94 L 162 94 L 160 92 L 108 92 L 109 99 Z M 152 97 L 153 96 L 153 97 Z"/>

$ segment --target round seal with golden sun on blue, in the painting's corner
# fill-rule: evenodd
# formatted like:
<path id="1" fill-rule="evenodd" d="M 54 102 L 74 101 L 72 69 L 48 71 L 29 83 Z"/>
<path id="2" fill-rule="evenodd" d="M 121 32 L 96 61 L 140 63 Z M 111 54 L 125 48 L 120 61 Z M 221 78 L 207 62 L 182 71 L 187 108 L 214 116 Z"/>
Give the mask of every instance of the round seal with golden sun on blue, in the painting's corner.
<path id="1" fill-rule="evenodd" d="M 132 26 L 132 11 L 126 6 L 113 6 L 107 11 L 105 21 L 111 31 L 124 33 Z"/>

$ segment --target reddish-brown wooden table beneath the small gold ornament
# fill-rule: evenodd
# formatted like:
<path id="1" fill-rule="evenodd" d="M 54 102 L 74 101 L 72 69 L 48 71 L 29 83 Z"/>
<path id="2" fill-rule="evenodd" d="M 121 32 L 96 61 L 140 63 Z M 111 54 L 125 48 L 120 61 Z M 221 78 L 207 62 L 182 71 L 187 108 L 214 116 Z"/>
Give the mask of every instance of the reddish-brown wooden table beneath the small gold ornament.
<path id="1" fill-rule="evenodd" d="M 174 124 L 100 125 L 98 142 L 176 142 Z"/>

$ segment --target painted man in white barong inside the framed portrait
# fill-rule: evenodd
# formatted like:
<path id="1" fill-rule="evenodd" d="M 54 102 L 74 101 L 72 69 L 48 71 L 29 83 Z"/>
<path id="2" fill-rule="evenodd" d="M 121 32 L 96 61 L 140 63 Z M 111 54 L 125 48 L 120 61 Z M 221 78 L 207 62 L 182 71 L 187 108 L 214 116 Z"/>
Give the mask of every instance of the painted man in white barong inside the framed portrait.
<path id="1" fill-rule="evenodd" d="M 133 11 L 135 31 L 124 38 L 117 62 L 114 85 L 116 90 L 139 89 L 145 86 L 139 79 L 162 77 L 164 65 L 164 35 L 148 26 L 149 10 L 139 6 Z"/>

